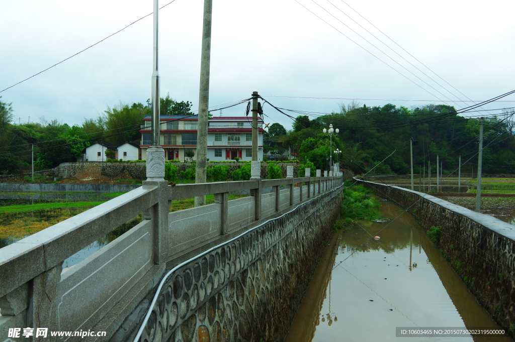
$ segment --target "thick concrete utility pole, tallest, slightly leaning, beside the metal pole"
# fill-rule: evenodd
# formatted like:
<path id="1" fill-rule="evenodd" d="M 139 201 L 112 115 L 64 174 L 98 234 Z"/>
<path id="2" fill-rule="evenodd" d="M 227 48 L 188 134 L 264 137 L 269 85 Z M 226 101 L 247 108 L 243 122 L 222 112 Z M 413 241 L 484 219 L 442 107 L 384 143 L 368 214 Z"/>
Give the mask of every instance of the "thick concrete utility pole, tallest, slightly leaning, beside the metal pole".
<path id="1" fill-rule="evenodd" d="M 205 183 L 208 163 L 209 71 L 211 63 L 211 13 L 213 0 L 204 0 L 202 55 L 200 57 L 200 91 L 197 124 L 197 169 L 195 183 Z M 195 206 L 205 205 L 205 196 L 195 196 Z"/>

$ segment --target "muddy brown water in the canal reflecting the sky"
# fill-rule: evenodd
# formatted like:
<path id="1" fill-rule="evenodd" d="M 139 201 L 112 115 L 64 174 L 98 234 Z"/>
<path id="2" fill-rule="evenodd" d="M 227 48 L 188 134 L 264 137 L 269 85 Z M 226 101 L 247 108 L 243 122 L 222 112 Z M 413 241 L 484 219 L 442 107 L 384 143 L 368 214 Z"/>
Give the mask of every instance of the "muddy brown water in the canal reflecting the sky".
<path id="1" fill-rule="evenodd" d="M 384 218 L 402 213 L 381 203 Z M 370 240 L 375 235 L 380 239 Z M 501 329 L 408 213 L 391 223 L 358 221 L 335 234 L 285 341 L 511 341 L 500 335 L 400 338 L 396 327 Z"/>

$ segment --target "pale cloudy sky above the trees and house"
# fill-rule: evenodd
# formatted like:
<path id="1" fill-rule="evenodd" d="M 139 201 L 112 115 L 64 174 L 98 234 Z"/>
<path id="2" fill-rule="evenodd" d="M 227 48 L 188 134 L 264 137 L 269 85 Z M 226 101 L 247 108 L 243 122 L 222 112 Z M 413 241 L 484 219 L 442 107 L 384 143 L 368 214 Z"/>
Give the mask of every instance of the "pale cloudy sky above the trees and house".
<path id="1" fill-rule="evenodd" d="M 169 1 L 160 0 L 160 7 Z M 202 11 L 202 1 L 175 0 L 159 13 L 161 96 L 191 101 L 193 110 Z M 150 0 L 0 2 L 0 91 L 151 12 Z M 407 107 L 446 100 L 459 109 L 472 103 L 449 99 L 487 100 L 515 89 L 514 12 L 515 2 L 507 0 L 214 0 L 210 106 L 257 91 L 278 107 L 320 113 L 338 111 L 350 99 Z M 145 103 L 151 75 L 152 15 L 0 92 L 0 100 L 12 102 L 18 122 L 80 125 L 108 106 Z M 511 102 L 485 108 L 515 107 L 515 95 L 503 100 Z M 244 112 L 242 104 L 221 115 Z M 291 128 L 291 119 L 270 106 L 264 112 L 266 123 Z"/>

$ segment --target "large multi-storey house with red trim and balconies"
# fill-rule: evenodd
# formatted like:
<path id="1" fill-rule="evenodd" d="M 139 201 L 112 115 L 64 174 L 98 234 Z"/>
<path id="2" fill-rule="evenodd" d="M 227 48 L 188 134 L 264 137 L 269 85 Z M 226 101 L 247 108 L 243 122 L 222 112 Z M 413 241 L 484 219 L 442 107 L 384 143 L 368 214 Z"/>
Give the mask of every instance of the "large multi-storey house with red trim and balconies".
<path id="1" fill-rule="evenodd" d="M 162 115 L 160 120 L 160 146 L 165 150 L 167 160 L 186 160 L 184 152 L 193 150 L 197 155 L 198 116 Z M 175 120 L 173 122 L 166 122 Z M 143 118 L 141 126 L 142 159 L 146 159 L 146 149 L 150 147 L 151 116 Z M 263 160 L 263 120 L 258 118 L 258 160 Z M 213 117 L 208 127 L 209 160 L 252 160 L 252 118 Z"/>

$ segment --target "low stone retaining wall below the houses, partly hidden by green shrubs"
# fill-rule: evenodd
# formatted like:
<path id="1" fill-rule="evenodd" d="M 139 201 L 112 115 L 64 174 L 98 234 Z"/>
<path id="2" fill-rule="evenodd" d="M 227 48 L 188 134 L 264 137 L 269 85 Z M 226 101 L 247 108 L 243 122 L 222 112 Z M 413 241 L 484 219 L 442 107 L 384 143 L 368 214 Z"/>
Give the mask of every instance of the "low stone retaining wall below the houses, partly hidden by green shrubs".
<path id="1" fill-rule="evenodd" d="M 192 163 L 167 163 L 177 166 L 178 175 L 181 172 L 187 172 Z M 228 166 L 229 172 L 235 171 L 248 163 L 242 162 L 221 162 L 221 163 L 208 163 L 208 168 L 214 166 Z M 268 178 L 269 165 L 272 163 L 261 163 L 261 177 Z M 299 163 L 273 163 L 277 165 L 282 171 L 282 177 L 286 176 L 286 167 L 294 167 L 294 175 L 297 176 Z M 127 161 L 108 163 L 85 161 L 78 163 L 62 163 L 53 171 L 50 171 L 54 177 L 77 177 L 77 178 L 95 178 L 95 179 L 146 179 L 146 163 L 131 163 Z"/>

